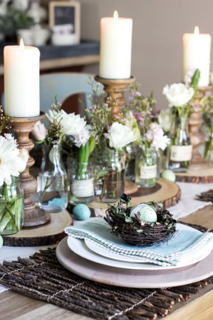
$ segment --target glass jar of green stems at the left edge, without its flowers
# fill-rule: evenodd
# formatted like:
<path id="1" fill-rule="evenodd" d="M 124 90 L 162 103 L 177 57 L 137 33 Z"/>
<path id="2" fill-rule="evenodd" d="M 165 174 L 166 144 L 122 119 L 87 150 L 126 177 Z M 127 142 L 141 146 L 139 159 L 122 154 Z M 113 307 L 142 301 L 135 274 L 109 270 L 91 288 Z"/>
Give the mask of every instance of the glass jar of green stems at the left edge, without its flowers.
<path id="1" fill-rule="evenodd" d="M 24 224 L 24 190 L 20 177 L 12 177 L 10 185 L 0 187 L 0 235 L 20 231 Z"/>

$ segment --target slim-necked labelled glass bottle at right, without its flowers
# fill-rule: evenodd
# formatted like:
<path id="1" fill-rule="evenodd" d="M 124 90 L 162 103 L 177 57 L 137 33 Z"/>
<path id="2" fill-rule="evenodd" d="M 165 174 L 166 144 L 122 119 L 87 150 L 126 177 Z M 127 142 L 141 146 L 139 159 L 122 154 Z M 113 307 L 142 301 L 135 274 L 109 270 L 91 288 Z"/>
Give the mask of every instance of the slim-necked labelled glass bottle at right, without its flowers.
<path id="1" fill-rule="evenodd" d="M 169 169 L 174 172 L 186 172 L 192 158 L 192 145 L 188 134 L 188 118 L 177 116 L 175 136 L 171 137 L 169 148 Z"/>

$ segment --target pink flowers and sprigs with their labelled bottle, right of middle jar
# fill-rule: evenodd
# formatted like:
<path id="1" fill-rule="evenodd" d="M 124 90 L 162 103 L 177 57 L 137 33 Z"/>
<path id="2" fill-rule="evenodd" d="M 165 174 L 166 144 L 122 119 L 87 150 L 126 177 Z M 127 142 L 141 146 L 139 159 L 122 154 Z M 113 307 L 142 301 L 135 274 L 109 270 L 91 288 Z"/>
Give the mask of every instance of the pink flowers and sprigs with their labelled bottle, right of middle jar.
<path id="1" fill-rule="evenodd" d="M 140 85 L 137 82 L 131 84 L 128 105 L 135 119 L 133 123 L 140 132 L 136 141 L 139 148 L 135 159 L 135 182 L 142 188 L 152 188 L 160 174 L 160 165 L 157 163 L 160 159 L 158 151 L 164 150 L 170 139 L 164 135 L 158 124 L 158 112 L 154 106 L 156 100 L 153 95 L 145 98 L 139 89 Z"/>

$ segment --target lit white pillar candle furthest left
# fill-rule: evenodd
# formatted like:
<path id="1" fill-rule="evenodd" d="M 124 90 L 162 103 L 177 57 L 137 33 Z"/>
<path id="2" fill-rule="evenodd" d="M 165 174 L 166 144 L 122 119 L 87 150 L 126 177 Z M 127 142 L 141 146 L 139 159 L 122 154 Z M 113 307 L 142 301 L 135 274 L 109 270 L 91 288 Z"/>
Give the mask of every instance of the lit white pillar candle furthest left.
<path id="1" fill-rule="evenodd" d="M 4 47 L 4 112 L 13 117 L 40 114 L 38 48 L 19 45 Z"/>

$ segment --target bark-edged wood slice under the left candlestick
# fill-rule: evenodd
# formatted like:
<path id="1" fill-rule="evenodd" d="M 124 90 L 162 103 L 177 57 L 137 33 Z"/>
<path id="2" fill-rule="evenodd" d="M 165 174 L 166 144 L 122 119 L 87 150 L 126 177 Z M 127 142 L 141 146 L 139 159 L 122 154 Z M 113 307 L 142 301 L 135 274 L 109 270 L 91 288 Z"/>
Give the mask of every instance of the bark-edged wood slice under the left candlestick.
<path id="1" fill-rule="evenodd" d="M 73 225 L 67 210 L 50 213 L 51 220 L 37 227 L 22 228 L 18 233 L 2 236 L 4 245 L 9 247 L 34 247 L 57 244 L 65 236 L 64 229 Z"/>

